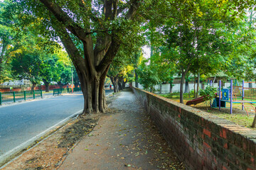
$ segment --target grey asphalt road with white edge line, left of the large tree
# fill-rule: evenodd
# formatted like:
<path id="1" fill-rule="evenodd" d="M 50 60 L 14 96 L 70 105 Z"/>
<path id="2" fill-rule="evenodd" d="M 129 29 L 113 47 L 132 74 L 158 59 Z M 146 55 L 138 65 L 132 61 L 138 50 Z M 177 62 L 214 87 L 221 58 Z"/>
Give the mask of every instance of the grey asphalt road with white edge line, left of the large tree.
<path id="1" fill-rule="evenodd" d="M 110 93 L 106 91 L 106 95 Z M 82 107 L 82 93 L 0 106 L 0 162 L 62 120 L 80 113 Z"/>

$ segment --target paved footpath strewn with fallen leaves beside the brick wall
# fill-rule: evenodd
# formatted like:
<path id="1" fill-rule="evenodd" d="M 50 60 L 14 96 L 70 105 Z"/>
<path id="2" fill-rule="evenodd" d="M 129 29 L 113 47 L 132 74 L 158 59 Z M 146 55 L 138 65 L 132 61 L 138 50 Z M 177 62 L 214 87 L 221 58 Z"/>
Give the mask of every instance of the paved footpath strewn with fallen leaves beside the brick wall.
<path id="1" fill-rule="evenodd" d="M 122 91 L 59 169 L 184 169 L 131 91 Z"/>

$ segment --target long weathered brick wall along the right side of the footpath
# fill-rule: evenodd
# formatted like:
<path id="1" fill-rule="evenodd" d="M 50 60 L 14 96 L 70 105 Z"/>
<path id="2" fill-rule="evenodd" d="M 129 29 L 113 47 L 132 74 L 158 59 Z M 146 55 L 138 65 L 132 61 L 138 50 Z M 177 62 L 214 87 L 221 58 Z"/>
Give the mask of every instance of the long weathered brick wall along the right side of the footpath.
<path id="1" fill-rule="evenodd" d="M 256 131 L 132 88 L 188 169 L 256 169 Z"/>

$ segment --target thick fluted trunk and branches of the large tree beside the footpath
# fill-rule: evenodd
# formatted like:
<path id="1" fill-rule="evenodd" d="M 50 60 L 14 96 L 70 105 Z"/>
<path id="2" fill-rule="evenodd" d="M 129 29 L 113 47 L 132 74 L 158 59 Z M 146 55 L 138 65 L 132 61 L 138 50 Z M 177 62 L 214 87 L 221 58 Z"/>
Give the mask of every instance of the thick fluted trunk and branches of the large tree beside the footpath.
<path id="1" fill-rule="evenodd" d="M 78 18 L 70 16 L 70 11 L 61 8 L 58 5 L 58 1 L 50 0 L 40 0 L 44 6 L 50 11 L 58 22 L 58 24 L 52 24 L 55 31 L 58 33 L 61 42 L 68 52 L 70 59 L 72 60 L 75 70 L 78 73 L 80 79 L 80 86 L 82 89 L 82 94 L 85 99 L 84 111 L 83 113 L 93 113 L 105 112 L 106 102 L 105 102 L 105 77 L 107 71 L 110 68 L 110 64 L 114 59 L 117 51 L 119 50 L 121 41 L 117 36 L 117 32 L 122 33 L 123 30 L 114 29 L 109 31 L 109 28 L 102 25 L 102 28 L 98 28 L 96 32 L 96 37 L 92 38 L 93 31 L 91 28 L 90 20 L 95 20 L 96 22 L 100 19 L 106 22 L 116 21 L 119 1 L 102 1 L 103 18 L 97 18 L 98 16 L 84 16 L 84 13 L 90 13 L 87 6 L 84 6 L 84 1 L 74 1 L 80 6 L 82 16 L 78 15 Z M 132 21 L 135 19 L 135 14 L 139 8 L 140 1 L 132 1 L 129 8 L 124 8 L 126 21 Z M 118 9 L 118 10 L 117 10 Z M 78 13 L 79 13 L 78 11 Z M 124 11 L 123 11 L 124 12 Z M 80 24 L 77 21 L 83 21 L 84 24 Z M 70 35 L 72 34 L 72 35 Z M 75 36 L 75 38 L 71 38 Z M 83 54 L 81 50 L 75 45 L 75 41 L 79 41 L 83 46 Z M 117 83 L 113 84 L 115 92 L 118 91 Z"/>

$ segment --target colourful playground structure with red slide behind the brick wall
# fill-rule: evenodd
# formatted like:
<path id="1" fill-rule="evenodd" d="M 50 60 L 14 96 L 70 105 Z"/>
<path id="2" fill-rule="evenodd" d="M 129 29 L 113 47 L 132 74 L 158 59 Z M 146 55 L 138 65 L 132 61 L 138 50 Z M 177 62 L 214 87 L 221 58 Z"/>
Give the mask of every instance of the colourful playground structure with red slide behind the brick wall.
<path id="1" fill-rule="evenodd" d="M 239 86 L 237 79 L 235 79 L 235 84 L 233 85 L 233 79 L 230 80 L 230 88 L 222 89 L 221 80 L 219 81 L 218 96 L 216 96 L 211 103 L 213 108 L 226 108 L 226 103 L 230 103 L 230 114 L 233 113 L 233 103 L 240 103 L 242 105 L 242 110 L 245 109 L 247 116 L 249 116 L 249 109 L 252 108 L 256 113 L 255 103 L 256 103 L 256 88 L 245 87 L 245 83 L 255 83 L 255 82 L 245 82 L 242 81 L 242 86 Z M 212 82 L 210 81 L 210 86 Z M 188 101 L 186 105 L 196 105 L 205 101 L 204 97 L 195 98 L 192 101 Z M 253 120 L 252 127 L 255 127 L 256 116 Z"/>

